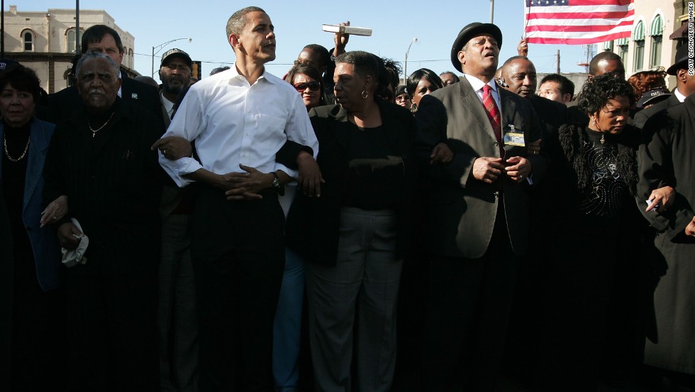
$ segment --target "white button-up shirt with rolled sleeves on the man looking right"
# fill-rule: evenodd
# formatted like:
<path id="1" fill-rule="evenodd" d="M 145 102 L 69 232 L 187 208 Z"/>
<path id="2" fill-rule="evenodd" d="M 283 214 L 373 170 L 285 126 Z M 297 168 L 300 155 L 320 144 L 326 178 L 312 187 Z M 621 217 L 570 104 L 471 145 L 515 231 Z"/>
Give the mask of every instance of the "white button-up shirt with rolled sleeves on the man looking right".
<path id="1" fill-rule="evenodd" d="M 226 174 L 243 171 L 240 163 L 296 178 L 294 170 L 275 162 L 288 138 L 311 147 L 314 157 L 318 154 L 316 134 L 296 89 L 267 71 L 249 85 L 236 65 L 191 86 L 164 136 L 196 141 L 200 163 L 169 160 L 160 153 L 160 164 L 181 187 L 192 181 L 184 175 L 200 168 Z"/>

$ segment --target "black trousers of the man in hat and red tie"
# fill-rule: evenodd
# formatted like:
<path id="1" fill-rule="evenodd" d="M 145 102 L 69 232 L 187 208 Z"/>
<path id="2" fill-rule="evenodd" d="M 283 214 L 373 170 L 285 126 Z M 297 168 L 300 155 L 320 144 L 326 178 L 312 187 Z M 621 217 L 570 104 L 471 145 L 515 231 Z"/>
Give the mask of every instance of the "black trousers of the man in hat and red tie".
<path id="1" fill-rule="evenodd" d="M 519 258 L 499 207 L 481 258 L 429 255 L 423 391 L 494 391 Z"/>

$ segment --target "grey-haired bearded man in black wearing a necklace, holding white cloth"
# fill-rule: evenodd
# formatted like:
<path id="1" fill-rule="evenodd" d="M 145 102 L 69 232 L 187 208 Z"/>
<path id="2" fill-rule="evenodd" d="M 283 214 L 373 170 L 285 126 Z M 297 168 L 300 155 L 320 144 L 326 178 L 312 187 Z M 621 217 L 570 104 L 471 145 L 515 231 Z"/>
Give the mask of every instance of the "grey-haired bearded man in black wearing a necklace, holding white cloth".
<path id="1" fill-rule="evenodd" d="M 83 103 L 60 121 L 44 169 L 45 202 L 66 195 L 58 240 L 89 237 L 84 265 L 67 271 L 71 391 L 157 391 L 157 207 L 164 173 L 150 146 L 149 111 L 118 97 L 118 65 L 89 52 L 77 62 Z M 75 219 L 79 223 L 72 222 Z"/>

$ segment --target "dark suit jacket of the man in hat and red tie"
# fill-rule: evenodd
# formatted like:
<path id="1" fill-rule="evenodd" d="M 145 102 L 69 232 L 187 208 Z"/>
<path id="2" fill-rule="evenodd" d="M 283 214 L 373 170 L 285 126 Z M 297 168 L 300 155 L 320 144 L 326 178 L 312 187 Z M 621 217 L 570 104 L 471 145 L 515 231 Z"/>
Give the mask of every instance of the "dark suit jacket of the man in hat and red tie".
<path id="1" fill-rule="evenodd" d="M 538 117 L 528 100 L 499 88 L 502 132 L 511 125 L 523 131 L 526 143 L 543 137 Z M 454 159 L 447 165 L 430 165 L 437 143 L 445 142 Z M 504 146 L 506 157 L 526 156 L 526 147 Z M 416 113 L 416 159 L 432 180 L 426 205 L 428 250 L 440 256 L 479 258 L 485 254 L 495 226 L 500 187 L 504 195 L 506 224 L 515 254 L 528 249 L 528 183 L 486 184 L 471 173 L 479 157 L 499 158 L 494 130 L 486 111 L 468 80 L 438 89 L 423 97 Z M 528 156 L 533 180 L 545 171 L 542 155 Z"/>

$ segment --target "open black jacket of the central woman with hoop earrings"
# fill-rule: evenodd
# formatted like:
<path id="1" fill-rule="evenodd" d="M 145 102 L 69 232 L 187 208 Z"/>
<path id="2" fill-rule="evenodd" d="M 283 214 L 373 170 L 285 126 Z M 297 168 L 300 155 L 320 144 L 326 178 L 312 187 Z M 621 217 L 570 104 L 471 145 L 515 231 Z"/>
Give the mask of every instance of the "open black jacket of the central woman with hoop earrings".
<path id="1" fill-rule="evenodd" d="M 396 256 L 401 258 L 408 244 L 411 229 L 411 189 L 415 167 L 412 160 L 413 116 L 410 111 L 377 99 L 382 124 L 391 148 L 403 159 L 405 185 L 402 191 Z M 306 197 L 297 192 L 287 216 L 287 246 L 309 261 L 335 265 L 340 236 L 340 207 L 343 206 L 345 173 L 350 146 L 349 132 L 354 131 L 347 111 L 340 105 L 317 107 L 309 111 L 311 124 L 318 138 L 316 161 L 326 183 L 321 185 L 321 197 Z"/>

